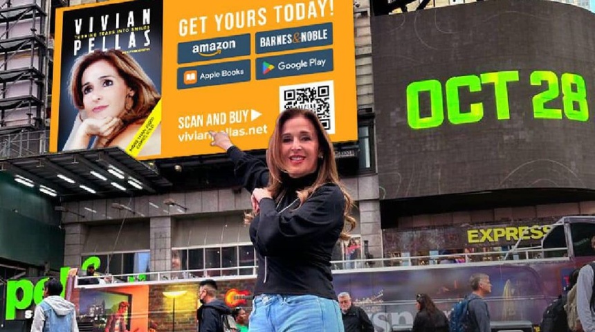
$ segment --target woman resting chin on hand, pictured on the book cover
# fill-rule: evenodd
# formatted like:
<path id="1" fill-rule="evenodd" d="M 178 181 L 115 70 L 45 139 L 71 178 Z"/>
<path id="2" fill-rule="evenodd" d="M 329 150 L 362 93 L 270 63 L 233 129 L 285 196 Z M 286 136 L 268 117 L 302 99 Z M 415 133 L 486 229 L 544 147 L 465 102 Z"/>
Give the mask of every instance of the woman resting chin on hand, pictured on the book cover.
<path id="1" fill-rule="evenodd" d="M 95 50 L 79 57 L 69 91 L 79 109 L 64 150 L 118 146 L 126 149 L 161 95 L 143 68 L 120 50 Z M 156 127 L 140 156 L 161 152 L 161 127 Z"/>

